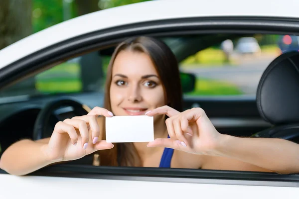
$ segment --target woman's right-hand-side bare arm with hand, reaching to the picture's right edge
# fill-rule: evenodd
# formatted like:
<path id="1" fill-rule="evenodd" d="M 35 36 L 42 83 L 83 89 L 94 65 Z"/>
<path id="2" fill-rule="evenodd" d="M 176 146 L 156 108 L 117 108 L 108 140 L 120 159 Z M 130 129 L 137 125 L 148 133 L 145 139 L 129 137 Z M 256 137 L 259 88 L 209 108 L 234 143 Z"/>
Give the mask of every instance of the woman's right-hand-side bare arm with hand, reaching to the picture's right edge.
<path id="1" fill-rule="evenodd" d="M 168 147 L 205 155 L 204 169 L 272 171 L 299 173 L 299 144 L 274 138 L 239 138 L 219 133 L 204 110 L 192 108 L 178 112 L 162 106 L 147 113 L 167 114 L 170 139 L 158 138 L 149 147 Z M 198 161 L 196 158 L 190 161 Z"/>

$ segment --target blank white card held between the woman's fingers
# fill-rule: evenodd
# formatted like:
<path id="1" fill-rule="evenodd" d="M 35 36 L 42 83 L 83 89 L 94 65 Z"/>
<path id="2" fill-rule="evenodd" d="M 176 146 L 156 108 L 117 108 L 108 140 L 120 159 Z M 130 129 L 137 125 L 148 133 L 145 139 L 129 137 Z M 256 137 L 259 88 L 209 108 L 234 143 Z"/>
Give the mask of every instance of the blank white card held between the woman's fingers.
<path id="1" fill-rule="evenodd" d="M 106 117 L 106 141 L 153 141 L 153 117 L 146 115 Z"/>

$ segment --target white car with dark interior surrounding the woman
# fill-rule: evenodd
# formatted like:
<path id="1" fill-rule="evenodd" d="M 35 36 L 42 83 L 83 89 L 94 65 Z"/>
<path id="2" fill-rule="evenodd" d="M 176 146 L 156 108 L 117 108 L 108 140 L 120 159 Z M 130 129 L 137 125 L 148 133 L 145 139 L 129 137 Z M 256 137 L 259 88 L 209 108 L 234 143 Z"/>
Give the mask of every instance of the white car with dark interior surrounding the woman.
<path id="1" fill-rule="evenodd" d="M 219 132 L 299 143 L 299 99 L 294 100 L 298 85 L 290 86 L 296 81 L 284 87 L 282 80 L 273 80 L 275 89 L 260 86 L 272 58 L 258 69 L 241 67 L 245 75 L 232 68 L 183 66 L 186 58 L 226 39 L 256 33 L 299 35 L 298 7 L 297 0 L 153 0 L 86 14 L 15 42 L 0 50 L 0 155 L 17 140 L 50 136 L 57 121 L 84 113 L 78 108 L 81 104 L 101 106 L 101 86 L 113 47 L 135 35 L 155 36 L 171 47 L 187 80 L 184 107 L 201 106 Z M 228 72 L 244 76 L 234 78 Z M 193 92 L 194 76 L 200 79 L 203 74 L 209 81 L 235 80 L 241 86 L 221 84 L 213 90 L 218 96 L 203 96 L 205 90 Z M 289 73 L 279 74 L 291 79 Z M 250 83 L 254 89 L 249 92 Z M 21 177 L 0 170 L 0 199 L 297 199 L 299 195 L 296 174 L 101 167 L 92 166 L 92 158 Z"/>

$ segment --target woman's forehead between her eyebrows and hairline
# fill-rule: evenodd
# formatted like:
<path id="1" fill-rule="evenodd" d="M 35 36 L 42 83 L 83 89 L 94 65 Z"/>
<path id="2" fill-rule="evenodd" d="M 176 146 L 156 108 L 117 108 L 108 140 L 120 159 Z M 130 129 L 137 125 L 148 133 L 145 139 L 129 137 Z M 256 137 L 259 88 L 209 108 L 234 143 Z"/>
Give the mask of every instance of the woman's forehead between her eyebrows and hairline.
<path id="1" fill-rule="evenodd" d="M 148 54 L 129 50 L 121 51 L 116 56 L 112 73 L 157 75 L 155 66 Z"/>

